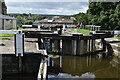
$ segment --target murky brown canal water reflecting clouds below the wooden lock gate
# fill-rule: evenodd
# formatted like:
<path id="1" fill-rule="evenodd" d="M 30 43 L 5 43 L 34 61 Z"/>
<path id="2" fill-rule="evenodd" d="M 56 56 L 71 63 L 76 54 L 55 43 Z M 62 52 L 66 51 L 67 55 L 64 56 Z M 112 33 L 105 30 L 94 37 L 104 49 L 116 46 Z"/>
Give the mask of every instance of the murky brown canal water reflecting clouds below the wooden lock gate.
<path id="1" fill-rule="evenodd" d="M 92 78 L 118 80 L 120 65 L 113 57 L 68 56 L 48 58 L 48 78 Z M 108 79 L 107 79 L 108 80 Z"/>

